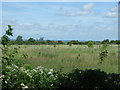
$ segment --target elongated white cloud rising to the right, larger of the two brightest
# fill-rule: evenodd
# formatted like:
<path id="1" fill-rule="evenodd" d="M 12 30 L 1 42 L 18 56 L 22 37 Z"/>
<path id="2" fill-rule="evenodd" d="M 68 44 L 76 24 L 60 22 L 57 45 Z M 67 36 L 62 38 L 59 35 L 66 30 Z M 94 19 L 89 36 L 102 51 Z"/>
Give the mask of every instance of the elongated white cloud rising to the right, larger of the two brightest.
<path id="1" fill-rule="evenodd" d="M 84 5 L 80 10 L 70 13 L 68 10 L 64 10 L 63 12 L 59 13 L 61 16 L 83 16 L 88 15 L 92 12 L 92 9 L 94 7 L 94 3 L 88 3 Z M 63 10 L 63 9 L 62 9 Z"/>

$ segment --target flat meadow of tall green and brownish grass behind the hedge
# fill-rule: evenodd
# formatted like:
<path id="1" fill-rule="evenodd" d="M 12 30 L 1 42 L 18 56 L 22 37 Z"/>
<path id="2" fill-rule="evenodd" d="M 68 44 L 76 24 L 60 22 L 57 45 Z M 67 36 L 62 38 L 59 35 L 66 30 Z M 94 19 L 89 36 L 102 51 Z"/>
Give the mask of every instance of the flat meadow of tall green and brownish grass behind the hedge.
<path id="1" fill-rule="evenodd" d="M 110 73 L 118 73 L 118 46 L 109 45 L 107 58 L 102 64 L 98 64 L 101 50 L 102 46 L 99 45 L 94 45 L 93 48 L 88 48 L 86 45 L 57 45 L 57 47 L 20 45 L 19 55 L 28 55 L 25 61 L 34 67 L 40 65 L 48 69 L 62 68 L 64 72 L 69 72 L 73 68 L 97 68 Z"/>

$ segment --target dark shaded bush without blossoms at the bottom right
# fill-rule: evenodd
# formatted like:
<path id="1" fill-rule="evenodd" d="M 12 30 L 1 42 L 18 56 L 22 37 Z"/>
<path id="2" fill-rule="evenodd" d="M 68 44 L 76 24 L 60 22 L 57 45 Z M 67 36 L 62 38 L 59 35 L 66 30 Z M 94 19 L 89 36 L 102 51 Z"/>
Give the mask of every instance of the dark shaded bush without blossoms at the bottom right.
<path id="1" fill-rule="evenodd" d="M 117 79 L 115 78 L 117 77 Z M 114 79 L 115 78 L 115 79 Z M 59 88 L 84 88 L 90 90 L 114 89 L 120 87 L 120 74 L 107 74 L 99 69 L 79 70 L 59 76 Z M 115 82 L 112 82 L 115 81 Z M 111 83 L 112 82 L 112 83 Z M 113 84 L 114 83 L 114 84 Z"/>

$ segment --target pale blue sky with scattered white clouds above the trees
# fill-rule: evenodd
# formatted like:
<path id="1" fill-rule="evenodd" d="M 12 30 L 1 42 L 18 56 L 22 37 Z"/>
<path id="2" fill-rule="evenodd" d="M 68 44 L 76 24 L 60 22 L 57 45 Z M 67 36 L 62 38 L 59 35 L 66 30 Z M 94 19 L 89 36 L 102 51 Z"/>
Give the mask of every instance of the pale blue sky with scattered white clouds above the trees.
<path id="1" fill-rule="evenodd" d="M 118 39 L 115 2 L 3 2 L 3 29 L 10 24 L 15 39 Z"/>

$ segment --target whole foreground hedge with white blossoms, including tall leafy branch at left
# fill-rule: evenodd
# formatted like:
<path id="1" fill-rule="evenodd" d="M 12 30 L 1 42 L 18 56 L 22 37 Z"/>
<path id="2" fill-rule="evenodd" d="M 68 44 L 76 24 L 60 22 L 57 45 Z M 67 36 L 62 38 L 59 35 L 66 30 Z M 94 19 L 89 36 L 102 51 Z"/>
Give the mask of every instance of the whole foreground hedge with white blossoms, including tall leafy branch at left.
<path id="1" fill-rule="evenodd" d="M 2 89 L 35 89 L 35 90 L 61 90 L 62 88 L 87 88 L 91 90 L 119 90 L 120 74 L 106 73 L 99 69 L 74 69 L 70 73 L 63 73 L 44 67 L 33 68 L 19 58 L 18 48 L 9 48 L 8 36 L 12 36 L 12 28 L 2 37 Z"/>

